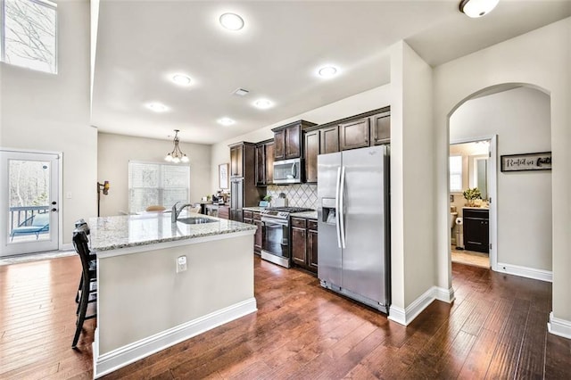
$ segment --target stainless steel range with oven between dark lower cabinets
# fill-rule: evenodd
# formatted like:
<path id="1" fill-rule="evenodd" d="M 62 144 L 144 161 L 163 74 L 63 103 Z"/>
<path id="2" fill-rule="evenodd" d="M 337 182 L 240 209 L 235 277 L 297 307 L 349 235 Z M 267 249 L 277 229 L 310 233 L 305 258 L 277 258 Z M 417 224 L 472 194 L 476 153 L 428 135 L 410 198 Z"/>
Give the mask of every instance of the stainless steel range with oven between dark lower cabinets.
<path id="1" fill-rule="evenodd" d="M 269 207 L 261 211 L 262 259 L 290 268 L 289 216 L 304 211 L 312 210 L 302 207 Z"/>

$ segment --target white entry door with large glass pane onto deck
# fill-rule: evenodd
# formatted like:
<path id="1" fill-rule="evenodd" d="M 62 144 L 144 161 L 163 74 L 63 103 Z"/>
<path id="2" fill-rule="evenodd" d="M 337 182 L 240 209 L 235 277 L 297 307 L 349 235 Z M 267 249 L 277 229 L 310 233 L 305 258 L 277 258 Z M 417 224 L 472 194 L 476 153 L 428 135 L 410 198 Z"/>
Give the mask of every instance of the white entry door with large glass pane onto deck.
<path id="1" fill-rule="evenodd" d="M 59 248 L 59 155 L 0 150 L 0 257 Z"/>

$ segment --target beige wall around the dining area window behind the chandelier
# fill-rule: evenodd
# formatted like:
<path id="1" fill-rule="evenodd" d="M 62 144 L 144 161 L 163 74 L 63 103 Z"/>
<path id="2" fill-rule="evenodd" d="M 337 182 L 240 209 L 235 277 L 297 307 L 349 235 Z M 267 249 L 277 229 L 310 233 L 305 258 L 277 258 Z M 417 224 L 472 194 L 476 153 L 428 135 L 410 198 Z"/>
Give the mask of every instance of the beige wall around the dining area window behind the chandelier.
<path id="1" fill-rule="evenodd" d="M 107 133 L 99 133 L 97 138 L 97 179 L 111 185 L 109 194 L 101 196 L 101 216 L 118 215 L 119 211 L 128 211 L 128 161 L 164 162 L 173 143 Z M 190 159 L 190 202 L 200 202 L 203 196 L 212 194 L 211 145 L 180 142 L 179 146 Z"/>

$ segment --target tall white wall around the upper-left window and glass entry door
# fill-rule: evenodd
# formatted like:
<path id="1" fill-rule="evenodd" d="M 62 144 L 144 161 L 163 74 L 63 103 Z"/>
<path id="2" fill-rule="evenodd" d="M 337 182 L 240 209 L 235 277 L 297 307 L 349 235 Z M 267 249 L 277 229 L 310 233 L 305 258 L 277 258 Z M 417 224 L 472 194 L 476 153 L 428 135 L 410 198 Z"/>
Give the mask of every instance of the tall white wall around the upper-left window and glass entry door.
<path id="1" fill-rule="evenodd" d="M 58 3 L 58 74 L 0 63 L 0 146 L 63 153 L 63 242 L 96 213 L 96 130 L 89 126 L 89 3 Z"/>

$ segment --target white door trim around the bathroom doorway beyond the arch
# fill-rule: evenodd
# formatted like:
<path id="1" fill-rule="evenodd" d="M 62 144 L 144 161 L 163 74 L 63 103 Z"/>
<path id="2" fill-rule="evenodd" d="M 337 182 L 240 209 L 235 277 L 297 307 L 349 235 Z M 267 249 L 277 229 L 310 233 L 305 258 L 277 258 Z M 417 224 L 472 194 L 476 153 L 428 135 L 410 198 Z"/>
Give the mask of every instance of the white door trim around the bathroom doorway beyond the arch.
<path id="1" fill-rule="evenodd" d="M 450 132 L 449 132 L 450 134 Z M 449 135 L 450 140 L 450 135 Z M 498 271 L 498 135 L 469 137 L 450 140 L 448 146 L 456 144 L 490 141 L 490 157 L 488 159 L 488 198 L 490 202 L 490 267 Z M 450 171 L 450 168 L 449 168 Z M 450 211 L 450 186 L 448 186 L 448 210 Z M 449 239 L 450 240 L 450 239 Z M 449 244 L 449 249 L 450 244 Z M 449 255 L 451 257 L 451 254 Z"/>

